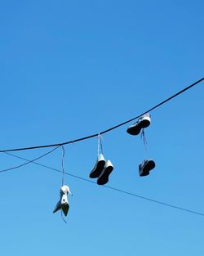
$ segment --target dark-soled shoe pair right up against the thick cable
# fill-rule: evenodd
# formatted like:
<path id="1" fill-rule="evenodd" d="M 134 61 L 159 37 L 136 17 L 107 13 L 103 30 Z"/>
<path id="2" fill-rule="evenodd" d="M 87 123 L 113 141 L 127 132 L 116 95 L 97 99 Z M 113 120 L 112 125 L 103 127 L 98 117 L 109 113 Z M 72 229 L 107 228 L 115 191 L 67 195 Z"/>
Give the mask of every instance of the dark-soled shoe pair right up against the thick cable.
<path id="1" fill-rule="evenodd" d="M 142 128 L 147 128 L 151 123 L 151 118 L 149 113 L 140 116 L 135 124 L 132 124 L 127 128 L 126 132 L 131 135 L 138 135 Z"/>

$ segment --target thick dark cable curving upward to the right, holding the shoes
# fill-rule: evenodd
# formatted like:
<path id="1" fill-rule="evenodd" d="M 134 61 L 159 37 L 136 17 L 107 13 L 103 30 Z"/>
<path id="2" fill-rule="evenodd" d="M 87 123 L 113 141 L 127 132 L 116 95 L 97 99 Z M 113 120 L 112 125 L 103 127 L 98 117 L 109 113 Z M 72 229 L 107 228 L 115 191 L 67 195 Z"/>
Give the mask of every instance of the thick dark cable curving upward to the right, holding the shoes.
<path id="1" fill-rule="evenodd" d="M 172 95 L 171 97 L 167 98 L 165 101 L 162 101 L 162 102 L 158 103 L 156 106 L 153 106 L 152 108 L 150 108 L 149 110 L 144 111 L 144 113 L 142 113 L 142 114 L 140 114 L 138 116 L 135 116 L 134 118 L 129 119 L 129 120 L 127 120 L 127 121 L 125 121 L 125 122 L 123 122 L 121 124 L 118 124 L 118 125 L 115 125 L 115 126 L 113 126 L 111 128 L 108 128 L 108 129 L 104 130 L 103 132 L 100 132 L 100 135 L 102 135 L 102 134 L 104 134 L 106 132 L 110 132 L 110 131 L 112 131 L 112 130 L 114 130 L 116 128 L 119 128 L 119 127 L 121 127 L 124 124 L 128 124 L 131 121 L 133 121 L 135 119 L 138 119 L 141 115 L 144 115 L 144 114 L 146 114 L 148 112 L 151 112 L 152 110 L 155 110 L 157 107 L 162 106 L 167 101 L 171 101 L 173 98 L 179 96 L 181 93 L 187 91 L 188 89 L 193 88 L 197 83 L 201 83 L 203 80 L 204 80 L 204 78 L 197 80 L 197 82 L 192 83 L 191 85 L 189 85 L 188 87 L 184 88 L 180 92 L 177 92 L 174 95 Z M 68 145 L 68 144 L 73 143 L 73 142 L 84 141 L 84 140 L 90 139 L 91 137 L 97 137 L 98 134 L 99 133 L 95 133 L 95 134 L 92 134 L 92 135 L 89 135 L 89 136 L 86 136 L 86 137 L 81 137 L 81 138 L 78 138 L 78 139 L 75 139 L 75 140 L 72 140 L 72 141 L 65 141 L 65 142 L 56 143 L 56 144 L 49 144 L 49 145 L 42 145 L 42 146 L 29 146 L 29 147 L 21 147 L 21 148 L 14 148 L 14 149 L 8 149 L 8 150 L 0 150 L 0 153 L 1 152 L 11 152 L 11 151 L 20 151 L 20 150 L 34 150 L 34 149 L 40 149 L 40 148 L 44 148 L 44 147 Z"/>

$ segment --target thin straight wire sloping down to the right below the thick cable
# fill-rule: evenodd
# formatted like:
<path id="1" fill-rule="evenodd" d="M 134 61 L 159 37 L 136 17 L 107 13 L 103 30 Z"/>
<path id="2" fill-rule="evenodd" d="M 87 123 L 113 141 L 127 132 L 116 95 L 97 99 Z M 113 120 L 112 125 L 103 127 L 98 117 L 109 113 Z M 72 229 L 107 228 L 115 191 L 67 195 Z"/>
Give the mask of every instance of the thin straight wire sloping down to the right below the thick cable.
<path id="1" fill-rule="evenodd" d="M 13 154 L 8 153 L 8 152 L 4 152 L 4 153 L 7 154 L 7 155 L 14 156 L 14 157 L 19 158 L 19 159 L 23 159 L 23 160 L 25 160 L 25 161 L 29 161 L 29 159 L 24 159 L 23 157 L 20 157 L 20 156 L 18 156 L 18 155 L 13 155 Z M 31 163 L 31 161 L 29 161 L 29 162 Z M 44 167 L 44 168 L 51 169 L 51 170 L 53 170 L 53 171 L 55 171 L 55 172 L 62 173 L 62 171 L 60 171 L 59 169 L 49 167 L 49 166 L 47 166 L 47 165 L 45 165 L 45 164 L 39 164 L 39 163 L 37 163 L 37 162 L 32 162 L 32 163 L 33 163 L 33 164 L 38 164 L 39 166 L 42 166 L 42 167 Z M 78 179 L 80 179 L 80 180 L 82 180 L 82 181 L 90 182 L 90 183 L 93 183 L 93 184 L 97 185 L 97 183 L 92 182 L 91 180 L 88 180 L 88 179 L 86 179 L 86 178 L 84 178 L 84 177 L 79 177 L 79 176 L 77 176 L 77 175 L 73 175 L 72 173 L 66 173 L 66 172 L 64 172 L 64 174 L 69 175 L 70 177 L 76 177 L 76 178 L 78 178 Z M 97 186 L 98 186 L 98 185 L 97 185 Z M 185 208 L 182 208 L 182 207 L 180 207 L 180 206 L 176 206 L 176 205 L 174 205 L 174 204 L 167 204 L 167 203 L 162 202 L 162 201 L 153 200 L 153 199 L 151 199 L 151 198 L 149 198 L 149 197 L 144 197 L 144 196 L 142 196 L 142 195 L 137 195 L 137 194 L 135 194 L 135 193 L 131 193 L 131 192 L 128 192 L 128 191 L 123 191 L 123 190 L 118 189 L 118 188 L 113 187 L 113 186 L 104 185 L 103 187 L 109 188 L 110 190 L 113 190 L 113 191 L 118 191 L 118 192 L 123 193 L 123 194 L 126 194 L 126 195 L 135 196 L 135 197 L 140 198 L 140 199 L 142 199 L 142 200 L 147 200 L 147 201 L 150 201 L 150 202 L 153 202 L 153 203 L 156 203 L 156 204 L 164 205 L 164 206 L 166 206 L 166 207 L 171 207 L 171 208 L 173 208 L 173 209 L 179 209 L 179 210 L 182 210 L 182 211 L 184 211 L 184 212 L 193 213 L 193 214 L 197 214 L 197 215 L 200 215 L 200 216 L 204 217 L 204 213 L 199 213 L 199 212 L 197 212 L 197 211 L 193 211 L 193 210 L 190 210 L 190 209 L 185 209 Z"/>

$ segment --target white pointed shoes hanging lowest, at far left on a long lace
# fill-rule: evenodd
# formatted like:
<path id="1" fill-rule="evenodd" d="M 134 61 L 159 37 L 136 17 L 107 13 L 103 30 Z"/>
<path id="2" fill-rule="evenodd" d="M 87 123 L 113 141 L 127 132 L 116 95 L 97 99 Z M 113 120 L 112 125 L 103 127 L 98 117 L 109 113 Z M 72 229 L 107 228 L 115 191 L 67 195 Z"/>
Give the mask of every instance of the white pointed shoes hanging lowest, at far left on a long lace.
<path id="1" fill-rule="evenodd" d="M 64 185 L 60 187 L 60 200 L 57 202 L 53 213 L 62 209 L 64 215 L 67 216 L 69 211 L 68 193 L 70 195 L 73 195 L 69 190 L 69 186 Z"/>

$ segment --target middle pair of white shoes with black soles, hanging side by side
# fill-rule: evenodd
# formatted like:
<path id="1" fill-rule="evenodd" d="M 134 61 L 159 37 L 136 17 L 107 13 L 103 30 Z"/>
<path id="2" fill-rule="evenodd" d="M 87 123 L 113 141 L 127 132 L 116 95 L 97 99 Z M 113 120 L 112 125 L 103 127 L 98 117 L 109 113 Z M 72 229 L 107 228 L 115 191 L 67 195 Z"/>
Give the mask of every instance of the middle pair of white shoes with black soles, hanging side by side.
<path id="1" fill-rule="evenodd" d="M 105 161 L 104 155 L 100 154 L 96 160 L 94 168 L 89 177 L 97 178 L 98 185 L 104 185 L 109 182 L 109 175 L 113 171 L 113 164 L 110 160 Z"/>

